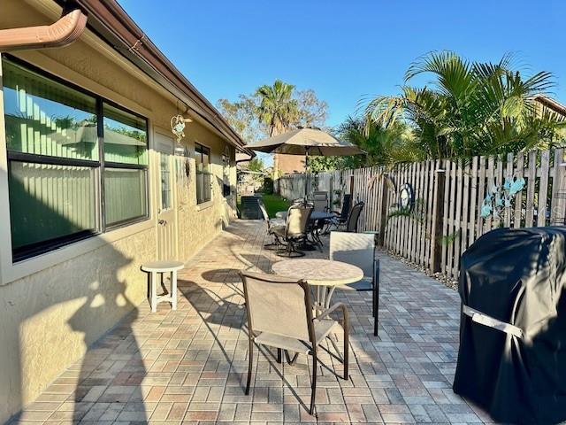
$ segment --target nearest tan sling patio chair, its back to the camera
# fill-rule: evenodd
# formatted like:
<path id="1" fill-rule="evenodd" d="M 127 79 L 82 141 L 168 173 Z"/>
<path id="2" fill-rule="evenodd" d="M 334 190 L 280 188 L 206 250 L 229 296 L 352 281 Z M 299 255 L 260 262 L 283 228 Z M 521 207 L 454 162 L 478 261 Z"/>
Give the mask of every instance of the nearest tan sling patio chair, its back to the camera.
<path id="1" fill-rule="evenodd" d="M 249 369 L 246 383 L 246 395 L 253 367 L 254 343 L 277 348 L 278 362 L 281 352 L 286 352 L 287 362 L 292 363 L 288 352 L 312 356 L 310 414 L 314 413 L 317 392 L 317 347 L 334 328 L 338 321 L 330 318 L 330 313 L 341 310 L 344 328 L 343 365 L 345 380 L 348 379 L 348 309 L 343 303 L 337 303 L 312 317 L 310 287 L 304 281 L 292 281 L 274 274 L 241 272 L 246 312 L 248 314 Z"/>

